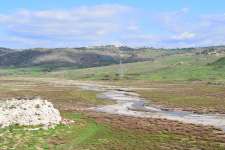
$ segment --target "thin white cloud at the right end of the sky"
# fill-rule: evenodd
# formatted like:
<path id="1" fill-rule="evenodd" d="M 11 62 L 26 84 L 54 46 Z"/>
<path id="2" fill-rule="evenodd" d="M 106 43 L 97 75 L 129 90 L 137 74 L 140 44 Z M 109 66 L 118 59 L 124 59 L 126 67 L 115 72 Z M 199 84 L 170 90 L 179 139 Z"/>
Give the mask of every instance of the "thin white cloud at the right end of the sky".
<path id="1" fill-rule="evenodd" d="M 164 32 L 158 43 L 164 47 L 225 44 L 225 14 L 192 14 L 185 8 L 156 16 Z"/>

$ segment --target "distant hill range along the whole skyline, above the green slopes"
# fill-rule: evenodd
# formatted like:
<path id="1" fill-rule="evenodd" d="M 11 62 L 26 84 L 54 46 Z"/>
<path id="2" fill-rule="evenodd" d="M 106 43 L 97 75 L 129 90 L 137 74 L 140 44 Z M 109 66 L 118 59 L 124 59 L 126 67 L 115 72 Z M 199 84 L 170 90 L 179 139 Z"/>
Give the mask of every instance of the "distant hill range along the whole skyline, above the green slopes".
<path id="1" fill-rule="evenodd" d="M 200 48 L 131 48 L 128 46 L 92 46 L 78 48 L 34 48 L 13 50 L 0 47 L 0 67 L 88 68 L 123 63 L 153 61 L 176 54 L 223 55 L 224 46 Z M 219 62 L 218 62 L 219 63 Z"/>

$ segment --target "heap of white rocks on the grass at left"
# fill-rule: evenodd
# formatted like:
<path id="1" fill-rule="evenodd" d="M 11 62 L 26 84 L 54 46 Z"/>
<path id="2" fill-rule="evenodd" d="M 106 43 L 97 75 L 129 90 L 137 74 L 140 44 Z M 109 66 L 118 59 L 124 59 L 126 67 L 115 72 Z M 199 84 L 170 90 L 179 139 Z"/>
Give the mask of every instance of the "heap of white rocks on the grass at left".
<path id="1" fill-rule="evenodd" d="M 35 98 L 0 101 L 0 127 L 10 125 L 54 127 L 62 121 L 60 113 L 47 100 Z"/>

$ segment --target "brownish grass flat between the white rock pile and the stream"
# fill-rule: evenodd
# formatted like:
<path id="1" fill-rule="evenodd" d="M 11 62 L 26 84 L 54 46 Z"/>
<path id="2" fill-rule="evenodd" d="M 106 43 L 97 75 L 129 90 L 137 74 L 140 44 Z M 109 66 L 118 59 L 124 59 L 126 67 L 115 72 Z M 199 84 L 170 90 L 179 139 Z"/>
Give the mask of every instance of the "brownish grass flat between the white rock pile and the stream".
<path id="1" fill-rule="evenodd" d="M 46 82 L 34 80 L 0 79 L 0 91 L 0 99 L 40 96 L 54 102 L 60 110 L 73 110 L 79 107 L 111 103 L 98 99 L 97 93 L 94 91 L 84 91 L 72 86 L 50 85 Z"/>

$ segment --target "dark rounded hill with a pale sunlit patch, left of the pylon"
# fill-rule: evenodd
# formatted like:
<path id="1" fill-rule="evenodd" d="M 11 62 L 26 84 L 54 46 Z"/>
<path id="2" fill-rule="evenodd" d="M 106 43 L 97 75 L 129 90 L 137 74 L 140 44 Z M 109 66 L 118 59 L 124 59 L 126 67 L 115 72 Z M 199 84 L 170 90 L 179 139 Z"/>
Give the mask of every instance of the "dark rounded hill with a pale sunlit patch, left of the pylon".
<path id="1" fill-rule="evenodd" d="M 0 56 L 2 67 L 93 67 L 116 63 L 115 58 L 91 52 L 68 50 L 23 50 Z"/>

